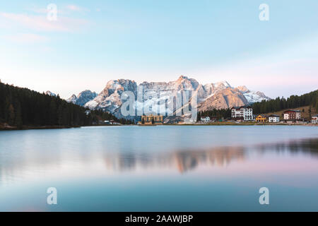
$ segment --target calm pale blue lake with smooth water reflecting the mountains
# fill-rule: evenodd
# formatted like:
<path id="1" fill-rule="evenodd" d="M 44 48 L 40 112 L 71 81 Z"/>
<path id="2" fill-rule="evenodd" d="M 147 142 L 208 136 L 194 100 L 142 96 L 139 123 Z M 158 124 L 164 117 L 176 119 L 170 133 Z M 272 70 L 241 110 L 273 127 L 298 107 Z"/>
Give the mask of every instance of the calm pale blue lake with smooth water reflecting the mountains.
<path id="1" fill-rule="evenodd" d="M 318 211 L 317 126 L 0 131 L 0 211 L 236 210 Z"/>

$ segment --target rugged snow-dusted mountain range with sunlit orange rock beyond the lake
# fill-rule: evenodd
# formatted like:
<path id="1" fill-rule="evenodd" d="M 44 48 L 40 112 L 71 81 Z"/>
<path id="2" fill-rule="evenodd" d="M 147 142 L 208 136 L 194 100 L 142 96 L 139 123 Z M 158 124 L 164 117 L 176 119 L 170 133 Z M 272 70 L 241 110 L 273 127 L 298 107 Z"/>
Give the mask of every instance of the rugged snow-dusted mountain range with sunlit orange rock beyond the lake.
<path id="1" fill-rule="evenodd" d="M 102 109 L 121 118 L 124 117 L 120 111 L 120 107 L 122 107 L 121 97 L 124 91 L 130 91 L 137 96 L 140 90 L 142 90 L 143 100 L 140 101 L 136 99 L 136 106 L 142 105 L 143 107 L 150 107 L 151 103 L 156 102 L 159 104 L 159 109 L 164 108 L 173 101 L 173 97 L 175 97 L 177 93 L 183 91 L 191 92 L 190 99 L 196 94 L 198 111 L 200 112 L 208 109 L 225 109 L 228 107 L 250 105 L 254 102 L 261 102 L 262 100 L 270 100 L 264 93 L 249 90 L 244 85 L 235 88 L 227 81 L 202 85 L 194 78 L 179 76 L 176 81 L 143 82 L 139 85 L 137 85 L 135 81 L 128 79 L 111 80 L 107 82 L 105 88 L 98 95 L 90 90 L 84 90 L 77 96 L 71 95 L 67 101 L 90 109 Z M 163 102 L 163 98 L 165 98 L 167 102 Z M 177 109 L 174 109 L 174 111 L 175 110 L 177 111 Z"/>

